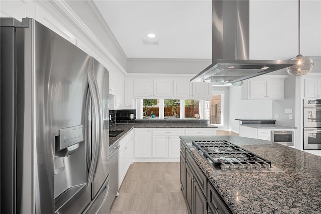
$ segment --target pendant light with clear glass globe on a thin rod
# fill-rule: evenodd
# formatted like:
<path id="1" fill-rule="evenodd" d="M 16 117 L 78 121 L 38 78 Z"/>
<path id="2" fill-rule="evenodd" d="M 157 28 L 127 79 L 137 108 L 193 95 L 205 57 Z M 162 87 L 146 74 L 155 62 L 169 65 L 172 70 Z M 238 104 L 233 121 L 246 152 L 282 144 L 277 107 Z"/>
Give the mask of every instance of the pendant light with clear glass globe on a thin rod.
<path id="1" fill-rule="evenodd" d="M 286 71 L 292 75 L 301 77 L 302 75 L 308 74 L 313 68 L 313 60 L 307 56 L 302 56 L 300 53 L 300 18 L 301 18 L 301 11 L 300 11 L 300 0 L 299 2 L 299 55 L 294 57 L 291 60 L 296 60 L 296 65 L 290 66 L 286 68 Z"/>

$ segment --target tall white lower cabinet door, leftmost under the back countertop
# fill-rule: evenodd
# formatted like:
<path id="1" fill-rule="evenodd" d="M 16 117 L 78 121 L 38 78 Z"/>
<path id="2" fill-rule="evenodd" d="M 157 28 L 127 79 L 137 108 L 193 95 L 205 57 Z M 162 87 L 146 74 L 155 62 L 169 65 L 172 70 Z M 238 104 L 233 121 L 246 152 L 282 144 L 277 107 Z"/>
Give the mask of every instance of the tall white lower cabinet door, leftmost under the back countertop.
<path id="1" fill-rule="evenodd" d="M 151 158 L 150 129 L 135 129 L 135 158 Z"/>

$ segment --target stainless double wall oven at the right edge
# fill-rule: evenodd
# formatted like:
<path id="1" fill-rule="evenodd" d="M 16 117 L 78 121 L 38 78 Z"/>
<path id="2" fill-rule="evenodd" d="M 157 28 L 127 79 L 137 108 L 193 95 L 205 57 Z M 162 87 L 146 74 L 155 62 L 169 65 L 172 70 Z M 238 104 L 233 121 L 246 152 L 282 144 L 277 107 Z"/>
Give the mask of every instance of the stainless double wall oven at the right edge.
<path id="1" fill-rule="evenodd" d="M 321 149 L 321 99 L 304 99 L 303 103 L 303 149 Z"/>

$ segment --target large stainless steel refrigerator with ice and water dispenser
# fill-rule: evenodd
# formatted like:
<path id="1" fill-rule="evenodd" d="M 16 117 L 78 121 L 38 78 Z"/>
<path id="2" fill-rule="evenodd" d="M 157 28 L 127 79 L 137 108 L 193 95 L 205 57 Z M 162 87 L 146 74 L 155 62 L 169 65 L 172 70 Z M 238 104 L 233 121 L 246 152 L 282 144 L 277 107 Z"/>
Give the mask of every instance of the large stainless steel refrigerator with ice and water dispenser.
<path id="1" fill-rule="evenodd" d="M 34 19 L 0 26 L 1 213 L 109 213 L 108 71 Z"/>

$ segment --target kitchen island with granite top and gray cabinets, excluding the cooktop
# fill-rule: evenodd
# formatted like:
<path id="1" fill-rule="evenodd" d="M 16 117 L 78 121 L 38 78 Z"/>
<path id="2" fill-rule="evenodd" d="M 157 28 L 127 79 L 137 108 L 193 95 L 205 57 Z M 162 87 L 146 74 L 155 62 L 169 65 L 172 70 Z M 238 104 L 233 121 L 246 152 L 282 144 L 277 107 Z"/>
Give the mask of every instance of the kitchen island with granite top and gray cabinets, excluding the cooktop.
<path id="1" fill-rule="evenodd" d="M 190 213 L 321 213 L 321 157 L 238 136 L 180 136 L 180 181 Z M 226 140 L 283 172 L 218 172 L 192 140 Z"/>

